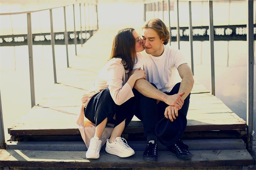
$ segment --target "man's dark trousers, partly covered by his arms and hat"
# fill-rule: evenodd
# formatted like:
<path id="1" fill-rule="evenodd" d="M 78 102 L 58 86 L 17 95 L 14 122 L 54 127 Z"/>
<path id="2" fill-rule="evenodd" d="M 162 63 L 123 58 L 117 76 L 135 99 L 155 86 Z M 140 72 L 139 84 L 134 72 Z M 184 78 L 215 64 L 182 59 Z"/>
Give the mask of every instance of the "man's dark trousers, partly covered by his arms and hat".
<path id="1" fill-rule="evenodd" d="M 151 83 L 154 85 L 153 83 Z M 154 85 L 156 87 L 156 85 Z M 177 83 L 170 92 L 165 92 L 167 95 L 177 94 L 180 88 L 180 83 Z M 165 117 L 165 108 L 168 105 L 160 101 L 157 104 L 156 99 L 146 97 L 140 94 L 137 90 L 134 90 L 134 95 L 136 99 L 136 111 L 135 116 L 143 121 L 144 126 L 144 135 L 152 136 L 155 134 L 155 127 L 159 120 Z M 187 116 L 188 108 L 189 108 L 189 99 L 190 94 L 184 100 L 184 104 L 180 110 L 178 110 L 178 114 L 184 114 Z M 175 121 L 175 119 L 173 120 Z M 184 132 L 183 132 L 184 133 Z"/>

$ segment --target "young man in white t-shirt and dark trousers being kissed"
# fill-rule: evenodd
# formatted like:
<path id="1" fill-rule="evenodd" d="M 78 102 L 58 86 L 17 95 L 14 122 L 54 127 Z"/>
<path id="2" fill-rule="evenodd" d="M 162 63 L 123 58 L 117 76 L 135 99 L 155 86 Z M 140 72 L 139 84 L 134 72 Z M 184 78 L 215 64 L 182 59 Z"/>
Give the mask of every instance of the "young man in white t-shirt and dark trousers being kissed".
<path id="1" fill-rule="evenodd" d="M 162 20 L 148 21 L 142 30 L 147 54 L 138 54 L 138 61 L 133 67 L 140 67 L 146 73 L 146 80 L 139 79 L 134 85 L 138 91 L 138 109 L 135 115 L 143 121 L 144 135 L 147 137 L 147 147 L 143 154 L 145 160 L 157 160 L 157 137 L 178 158 L 192 157 L 188 146 L 180 138 L 187 125 L 186 115 L 194 79 L 180 50 L 166 45 L 169 36 Z M 182 79 L 181 83 L 176 82 L 177 71 Z"/>

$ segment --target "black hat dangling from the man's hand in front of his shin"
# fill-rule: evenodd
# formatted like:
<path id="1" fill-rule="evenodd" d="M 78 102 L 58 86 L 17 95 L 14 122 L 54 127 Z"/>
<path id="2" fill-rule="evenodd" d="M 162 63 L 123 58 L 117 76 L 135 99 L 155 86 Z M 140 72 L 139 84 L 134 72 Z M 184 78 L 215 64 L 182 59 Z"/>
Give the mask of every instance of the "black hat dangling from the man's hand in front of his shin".
<path id="1" fill-rule="evenodd" d="M 179 116 L 172 122 L 164 117 L 156 125 L 156 135 L 163 145 L 170 146 L 182 137 L 186 126 L 187 118 L 182 113 L 179 113 Z"/>

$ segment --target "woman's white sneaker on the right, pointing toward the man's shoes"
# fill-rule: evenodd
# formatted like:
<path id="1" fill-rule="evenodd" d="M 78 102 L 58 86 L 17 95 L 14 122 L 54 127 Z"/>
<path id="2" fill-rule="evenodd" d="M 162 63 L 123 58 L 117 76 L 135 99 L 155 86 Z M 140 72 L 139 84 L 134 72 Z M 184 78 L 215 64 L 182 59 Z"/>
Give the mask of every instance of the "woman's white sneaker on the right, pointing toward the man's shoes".
<path id="1" fill-rule="evenodd" d="M 129 147 L 127 141 L 122 137 L 116 137 L 115 141 L 110 143 L 109 139 L 106 142 L 106 152 L 119 156 L 121 158 L 126 158 L 135 154 L 134 150 Z"/>

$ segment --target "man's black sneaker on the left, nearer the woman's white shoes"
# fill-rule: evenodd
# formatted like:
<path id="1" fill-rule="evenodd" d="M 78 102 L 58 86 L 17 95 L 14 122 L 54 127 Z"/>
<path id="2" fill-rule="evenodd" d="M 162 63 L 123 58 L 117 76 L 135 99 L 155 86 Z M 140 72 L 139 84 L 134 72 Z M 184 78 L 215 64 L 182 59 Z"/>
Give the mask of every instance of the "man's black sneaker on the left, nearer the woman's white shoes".
<path id="1" fill-rule="evenodd" d="M 157 142 L 148 142 L 147 147 L 143 153 L 145 161 L 157 161 Z"/>

